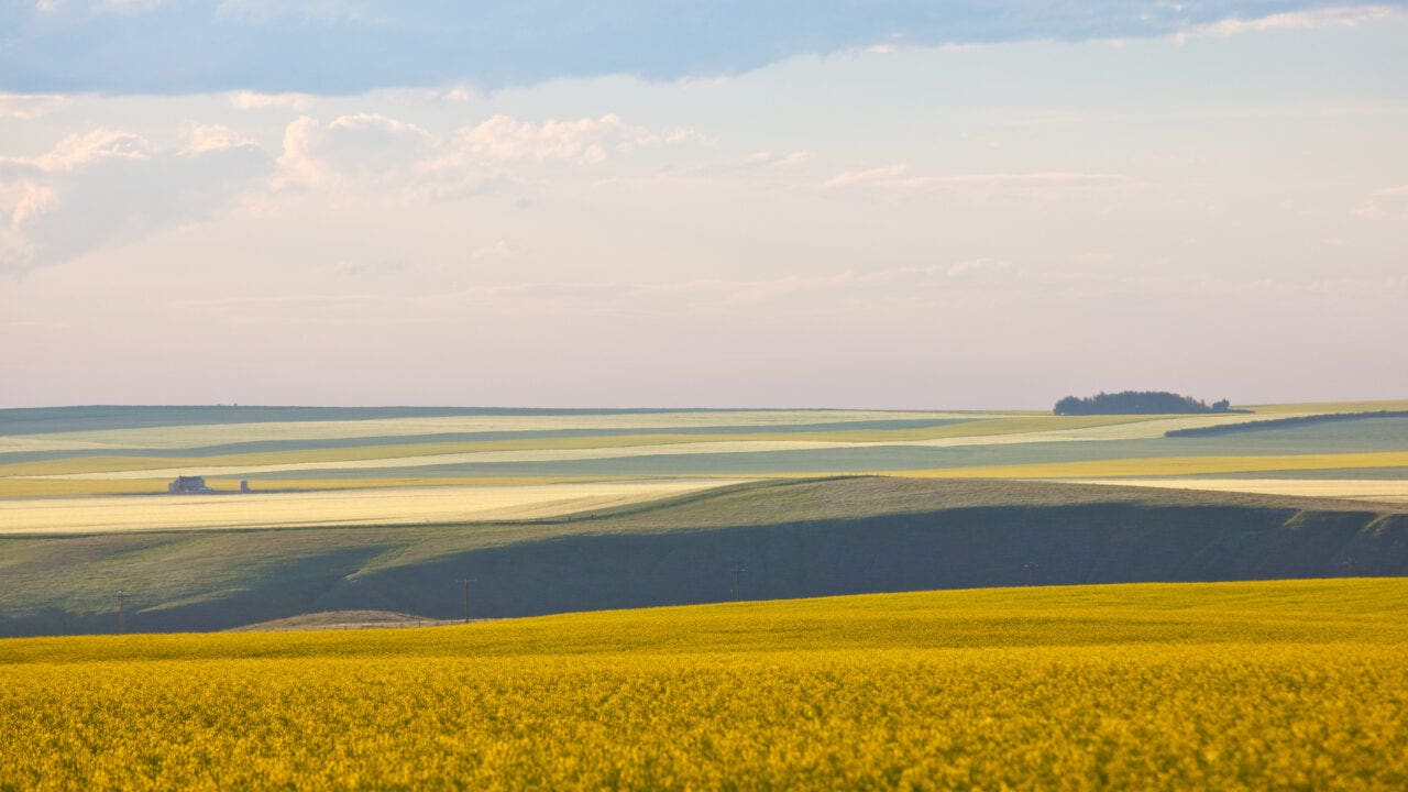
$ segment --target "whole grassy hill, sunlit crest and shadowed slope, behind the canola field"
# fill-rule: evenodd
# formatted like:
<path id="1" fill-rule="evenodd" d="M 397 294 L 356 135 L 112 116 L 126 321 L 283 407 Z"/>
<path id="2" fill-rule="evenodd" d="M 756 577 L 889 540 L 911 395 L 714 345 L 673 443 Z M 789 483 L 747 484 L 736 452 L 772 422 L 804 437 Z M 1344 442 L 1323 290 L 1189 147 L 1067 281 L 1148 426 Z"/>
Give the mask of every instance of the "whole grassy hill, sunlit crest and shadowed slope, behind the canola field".
<path id="1" fill-rule="evenodd" d="M 1408 574 L 1408 514 L 1041 482 L 743 485 L 598 519 L 0 540 L 0 633 L 220 630 L 322 610 L 431 619 L 1035 582 Z"/>

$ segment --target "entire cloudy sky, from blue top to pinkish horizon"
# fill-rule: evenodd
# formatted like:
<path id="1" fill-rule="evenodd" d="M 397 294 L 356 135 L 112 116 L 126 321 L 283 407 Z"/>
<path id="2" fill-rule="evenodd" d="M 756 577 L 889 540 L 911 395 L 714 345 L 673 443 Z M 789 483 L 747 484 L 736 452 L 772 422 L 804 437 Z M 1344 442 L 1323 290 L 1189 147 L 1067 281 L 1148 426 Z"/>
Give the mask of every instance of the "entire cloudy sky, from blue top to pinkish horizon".
<path id="1" fill-rule="evenodd" d="M 1408 397 L 1404 41 L 1405 3 L 0 0 L 0 406 Z"/>

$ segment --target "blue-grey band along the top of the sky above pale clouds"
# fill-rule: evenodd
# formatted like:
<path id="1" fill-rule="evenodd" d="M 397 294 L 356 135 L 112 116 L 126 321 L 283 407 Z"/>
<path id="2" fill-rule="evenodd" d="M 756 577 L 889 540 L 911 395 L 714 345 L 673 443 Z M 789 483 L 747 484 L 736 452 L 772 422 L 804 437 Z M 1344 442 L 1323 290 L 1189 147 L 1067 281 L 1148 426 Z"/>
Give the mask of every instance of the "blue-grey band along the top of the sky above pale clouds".
<path id="1" fill-rule="evenodd" d="M 877 45 L 1150 38 L 1335 7 L 1283 0 L 10 0 L 0 11 L 0 30 L 8 31 L 0 87 L 360 93 L 612 73 L 673 80 Z"/>

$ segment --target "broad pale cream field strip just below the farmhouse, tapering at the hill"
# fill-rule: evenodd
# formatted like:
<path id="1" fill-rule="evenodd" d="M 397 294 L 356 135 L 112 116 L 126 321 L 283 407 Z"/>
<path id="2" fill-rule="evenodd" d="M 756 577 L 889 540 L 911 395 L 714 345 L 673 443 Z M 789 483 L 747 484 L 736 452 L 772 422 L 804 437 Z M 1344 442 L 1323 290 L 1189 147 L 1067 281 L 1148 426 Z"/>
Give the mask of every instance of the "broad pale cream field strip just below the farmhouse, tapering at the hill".
<path id="1" fill-rule="evenodd" d="M 535 520 L 743 481 L 748 479 L 13 499 L 0 500 L 0 534 Z"/>

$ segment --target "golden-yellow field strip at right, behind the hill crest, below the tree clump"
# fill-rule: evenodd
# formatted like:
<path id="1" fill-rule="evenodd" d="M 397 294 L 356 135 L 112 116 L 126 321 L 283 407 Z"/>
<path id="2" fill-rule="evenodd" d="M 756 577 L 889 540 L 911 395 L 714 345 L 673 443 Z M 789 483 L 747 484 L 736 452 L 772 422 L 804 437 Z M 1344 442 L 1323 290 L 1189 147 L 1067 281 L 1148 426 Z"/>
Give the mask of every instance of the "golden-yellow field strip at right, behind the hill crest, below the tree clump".
<path id="1" fill-rule="evenodd" d="M 922 471 L 884 471 L 877 475 L 912 478 L 1084 479 L 1107 476 L 1181 476 L 1247 474 L 1256 471 L 1329 471 L 1336 468 L 1408 466 L 1408 451 L 1370 454 L 1287 454 L 1266 457 L 1150 457 L 1086 462 L 1032 462 Z"/>

